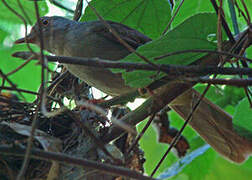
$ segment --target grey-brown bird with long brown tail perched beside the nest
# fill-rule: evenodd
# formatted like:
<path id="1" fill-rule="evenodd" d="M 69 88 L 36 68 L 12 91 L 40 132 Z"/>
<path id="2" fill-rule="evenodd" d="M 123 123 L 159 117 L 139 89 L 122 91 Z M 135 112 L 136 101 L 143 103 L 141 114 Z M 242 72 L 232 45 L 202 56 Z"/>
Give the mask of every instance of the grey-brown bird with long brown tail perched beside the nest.
<path id="1" fill-rule="evenodd" d="M 106 21 L 133 49 L 149 43 L 151 38 L 121 23 Z M 44 49 L 57 56 L 100 58 L 118 61 L 131 52 L 106 27 L 95 20 L 77 22 L 60 16 L 41 17 L 25 38 L 16 44 L 32 43 L 40 46 L 39 23 Z M 118 96 L 135 88 L 127 86 L 120 73 L 101 67 L 63 64 L 70 73 L 108 95 Z M 191 112 L 193 97 L 200 94 L 190 89 L 177 97 L 170 107 L 183 119 Z M 241 163 L 252 153 L 252 142 L 237 134 L 232 117 L 207 98 L 203 98 L 189 123 L 200 136 L 225 158 Z"/>

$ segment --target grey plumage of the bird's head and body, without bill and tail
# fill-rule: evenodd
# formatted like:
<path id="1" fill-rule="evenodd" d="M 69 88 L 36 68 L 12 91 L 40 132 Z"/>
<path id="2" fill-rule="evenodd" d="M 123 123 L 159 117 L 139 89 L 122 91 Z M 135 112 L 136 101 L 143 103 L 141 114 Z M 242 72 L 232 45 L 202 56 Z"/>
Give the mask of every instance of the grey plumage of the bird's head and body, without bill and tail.
<path id="1" fill-rule="evenodd" d="M 76 22 L 59 16 L 42 17 L 40 20 L 44 47 L 55 55 L 119 60 L 130 54 L 101 21 Z M 123 24 L 107 22 L 134 49 L 151 41 Z M 30 34 L 38 34 L 38 24 L 35 24 Z M 38 38 L 33 43 L 40 45 Z M 72 74 L 107 94 L 119 95 L 132 90 L 125 85 L 121 74 L 104 68 L 64 65 Z"/>

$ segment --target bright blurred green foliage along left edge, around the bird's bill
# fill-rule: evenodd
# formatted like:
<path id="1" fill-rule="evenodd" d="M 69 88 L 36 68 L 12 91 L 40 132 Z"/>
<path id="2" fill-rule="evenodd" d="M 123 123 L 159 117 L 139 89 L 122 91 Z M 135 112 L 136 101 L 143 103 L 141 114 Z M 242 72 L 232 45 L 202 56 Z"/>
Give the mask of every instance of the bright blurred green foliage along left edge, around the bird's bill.
<path id="1" fill-rule="evenodd" d="M 18 13 L 21 13 L 21 9 L 17 1 L 8 0 L 6 1 L 11 8 L 13 8 Z M 34 3 L 32 1 L 21 1 L 23 8 L 26 10 L 31 23 L 36 21 L 36 14 L 34 9 Z M 43 16 L 48 13 L 48 6 L 46 2 L 39 2 L 40 15 Z M 21 13 L 22 14 L 22 13 Z M 29 22 L 29 21 L 27 21 Z M 16 51 L 27 50 L 26 45 L 13 46 L 13 42 L 20 37 L 20 31 L 24 30 L 23 21 L 19 19 L 14 13 L 7 9 L 1 2 L 0 6 L 0 67 L 3 73 L 7 74 L 24 62 L 20 59 L 15 59 L 11 57 Z M 35 48 L 34 48 L 35 50 Z M 31 76 L 32 74 L 32 76 Z M 36 62 L 30 62 L 23 69 L 17 73 L 11 75 L 9 78 L 13 81 L 18 88 L 23 88 L 31 91 L 37 91 L 40 78 L 41 68 L 36 65 Z M 1 78 L 0 78 L 1 80 Z M 34 99 L 34 95 L 23 94 L 24 97 L 31 101 Z"/>

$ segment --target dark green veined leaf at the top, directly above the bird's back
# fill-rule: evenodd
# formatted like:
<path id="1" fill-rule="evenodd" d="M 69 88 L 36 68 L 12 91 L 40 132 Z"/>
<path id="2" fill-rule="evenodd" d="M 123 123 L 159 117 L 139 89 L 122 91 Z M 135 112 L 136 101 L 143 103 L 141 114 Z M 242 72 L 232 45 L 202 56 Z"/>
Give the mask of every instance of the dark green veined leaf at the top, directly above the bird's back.
<path id="1" fill-rule="evenodd" d="M 91 5 L 104 19 L 128 25 L 151 38 L 159 37 L 171 18 L 167 0 L 93 0 Z M 97 19 L 87 7 L 81 21 Z"/>

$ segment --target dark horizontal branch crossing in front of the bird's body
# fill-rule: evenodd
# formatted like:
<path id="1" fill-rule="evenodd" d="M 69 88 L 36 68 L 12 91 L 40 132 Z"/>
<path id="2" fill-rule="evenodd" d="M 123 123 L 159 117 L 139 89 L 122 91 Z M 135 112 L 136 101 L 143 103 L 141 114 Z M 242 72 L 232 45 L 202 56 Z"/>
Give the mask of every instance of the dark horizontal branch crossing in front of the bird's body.
<path id="1" fill-rule="evenodd" d="M 27 53 L 25 53 L 27 55 Z M 13 54 L 14 57 L 23 57 L 22 52 Z M 115 62 L 111 60 L 102 60 L 99 58 L 79 58 L 79 57 L 66 57 L 66 56 L 45 56 L 50 62 L 59 62 L 65 64 L 78 64 L 92 67 L 102 68 L 120 68 L 126 70 L 146 70 L 146 71 L 157 71 L 155 67 L 150 64 L 143 63 L 125 63 Z M 188 66 L 177 66 L 177 65 L 166 65 L 159 64 L 159 70 L 165 72 L 167 75 L 182 76 L 182 75 L 211 75 L 211 74 L 222 74 L 222 75 L 252 75 L 251 68 L 223 68 L 216 66 L 199 66 L 199 65 L 188 65 Z"/>

